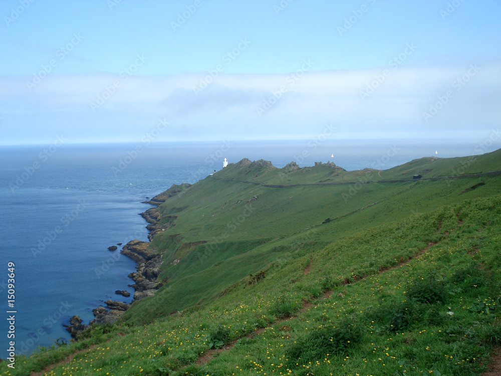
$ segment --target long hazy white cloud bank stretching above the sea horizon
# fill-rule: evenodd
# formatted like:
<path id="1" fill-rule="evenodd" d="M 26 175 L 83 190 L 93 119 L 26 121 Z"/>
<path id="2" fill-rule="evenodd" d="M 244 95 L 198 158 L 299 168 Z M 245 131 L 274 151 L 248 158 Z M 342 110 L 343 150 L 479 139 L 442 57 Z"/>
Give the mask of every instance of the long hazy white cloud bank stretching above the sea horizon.
<path id="1" fill-rule="evenodd" d="M 64 131 L 77 140 L 81 128 L 87 127 L 89 132 L 101 130 L 99 140 L 112 141 L 117 133 L 121 140 L 133 140 L 160 117 L 175 125 L 171 139 L 186 139 L 193 133 L 200 139 L 301 138 L 317 133 L 326 122 L 336 124 L 339 136 L 353 138 L 416 131 L 423 137 L 446 136 L 455 129 L 474 134 L 501 117 L 499 67 L 499 63 L 478 66 L 476 71 L 468 66 L 380 67 L 311 71 L 301 78 L 220 73 L 213 80 L 206 73 L 49 74 L 31 90 L 26 82 L 33 76 L 0 76 L 3 142 L 9 142 L 9 129 L 15 128 L 29 129 L 34 137 Z M 193 88 L 200 88 L 201 80 L 208 83 L 195 95 Z M 363 91 L 367 95 L 361 95 Z M 448 92 L 447 103 L 435 106 Z M 425 119 L 423 112 L 433 106 L 440 109 Z M 258 108 L 264 109 L 261 116 Z M 40 126 L 28 118 L 37 118 Z M 92 134 L 86 137 L 92 139 Z"/>

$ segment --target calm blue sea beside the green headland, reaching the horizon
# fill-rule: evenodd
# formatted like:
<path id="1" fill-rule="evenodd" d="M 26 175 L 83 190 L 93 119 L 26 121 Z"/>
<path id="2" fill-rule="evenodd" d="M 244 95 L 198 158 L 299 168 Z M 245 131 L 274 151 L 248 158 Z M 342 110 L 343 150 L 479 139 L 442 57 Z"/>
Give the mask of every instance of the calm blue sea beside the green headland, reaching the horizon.
<path id="1" fill-rule="evenodd" d="M 490 141 L 488 141 L 490 139 Z M 172 184 L 195 183 L 242 158 L 276 167 L 333 161 L 355 170 L 390 168 L 423 156 L 481 154 L 478 140 L 310 140 L 138 142 L 0 146 L 0 358 L 10 341 L 29 354 L 70 340 L 64 324 L 108 299 L 130 302 L 135 262 L 120 254 L 147 241 L 143 202 Z M 108 247 L 117 245 L 112 252 Z M 130 298 L 115 294 L 126 290 Z M 2 353 L 3 352 L 3 353 Z"/>

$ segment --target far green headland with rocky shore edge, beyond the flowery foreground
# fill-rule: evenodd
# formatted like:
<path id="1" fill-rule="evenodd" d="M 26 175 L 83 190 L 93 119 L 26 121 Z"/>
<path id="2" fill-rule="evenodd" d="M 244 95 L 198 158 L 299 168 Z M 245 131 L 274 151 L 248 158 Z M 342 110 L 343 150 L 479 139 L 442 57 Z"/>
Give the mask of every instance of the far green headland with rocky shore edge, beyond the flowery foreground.
<path id="1" fill-rule="evenodd" d="M 494 156 L 477 157 L 482 158 Z M 415 186 L 408 176 L 421 172 L 423 181 L 441 179 L 447 184 L 454 169 L 446 162 L 421 158 L 381 171 L 381 176 L 372 169 L 346 171 L 334 162 L 310 167 L 291 162 L 276 168 L 269 161 L 244 158 L 196 184 L 174 184 L 148 202 L 161 205 L 141 213 L 150 242 L 133 240 L 121 250 L 137 263 L 129 274 L 135 293 L 131 308 L 113 315 L 147 323 L 210 301 L 249 274 L 321 249 L 330 239 L 350 234 L 354 226 L 367 227 L 375 217 L 381 224 L 405 218 L 409 205 L 423 207 L 425 190 L 434 192 L 434 185 Z M 362 184 L 368 174 L 392 180 Z M 472 184 L 464 181 L 464 186 L 458 184 L 459 192 L 478 192 L 465 191 Z M 480 189 L 491 186 L 475 183 Z M 457 199 L 449 196 L 450 202 Z M 397 209 L 381 216 L 385 206 Z M 319 240 L 313 241 L 312 234 Z M 151 299 L 141 301 L 145 297 Z M 97 314 L 106 316 L 102 310 Z"/>

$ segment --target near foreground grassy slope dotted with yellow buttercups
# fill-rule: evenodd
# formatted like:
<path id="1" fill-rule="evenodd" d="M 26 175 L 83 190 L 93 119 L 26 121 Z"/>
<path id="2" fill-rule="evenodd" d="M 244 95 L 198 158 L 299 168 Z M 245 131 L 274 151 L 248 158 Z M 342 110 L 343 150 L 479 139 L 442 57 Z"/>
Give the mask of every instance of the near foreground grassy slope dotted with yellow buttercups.
<path id="1" fill-rule="evenodd" d="M 96 329 L 101 344 L 51 374 L 479 374 L 501 343 L 500 208 L 499 194 L 465 200 L 277 260 L 206 307 L 112 327 L 108 341 Z M 77 344 L 18 359 L 11 374 Z M 229 349 L 193 364 L 219 344 Z"/>

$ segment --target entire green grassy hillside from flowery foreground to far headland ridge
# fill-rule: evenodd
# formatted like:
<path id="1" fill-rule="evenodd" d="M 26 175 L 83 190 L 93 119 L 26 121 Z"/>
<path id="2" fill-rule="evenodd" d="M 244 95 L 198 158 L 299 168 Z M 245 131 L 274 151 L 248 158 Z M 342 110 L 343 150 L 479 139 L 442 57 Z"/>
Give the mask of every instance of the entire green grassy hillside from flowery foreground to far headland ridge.
<path id="1" fill-rule="evenodd" d="M 74 353 L 47 374 L 479 374 L 501 344 L 501 175 L 449 176 L 501 170 L 500 154 L 244 159 L 173 186 L 149 211 L 155 295 L 2 370 Z"/>

